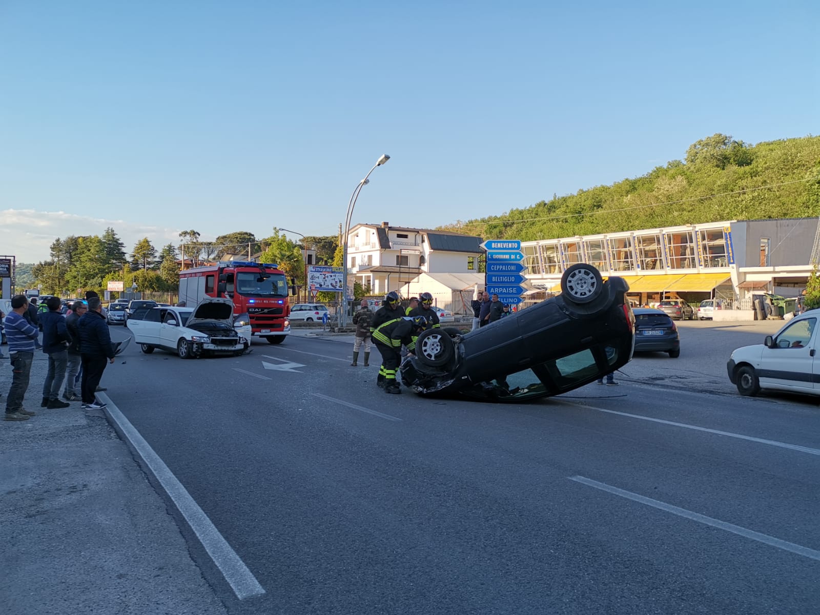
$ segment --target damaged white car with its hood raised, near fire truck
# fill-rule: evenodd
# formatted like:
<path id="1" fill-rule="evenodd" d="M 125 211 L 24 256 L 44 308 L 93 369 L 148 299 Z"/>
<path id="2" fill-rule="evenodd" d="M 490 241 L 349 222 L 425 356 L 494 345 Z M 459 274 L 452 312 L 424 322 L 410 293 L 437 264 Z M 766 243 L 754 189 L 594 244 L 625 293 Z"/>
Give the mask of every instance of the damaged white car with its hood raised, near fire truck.
<path id="1" fill-rule="evenodd" d="M 164 348 L 180 358 L 225 353 L 239 356 L 250 345 L 244 332 L 236 330 L 234 304 L 226 298 L 206 298 L 197 307 L 135 310 L 128 324 L 134 341 L 146 354 Z"/>

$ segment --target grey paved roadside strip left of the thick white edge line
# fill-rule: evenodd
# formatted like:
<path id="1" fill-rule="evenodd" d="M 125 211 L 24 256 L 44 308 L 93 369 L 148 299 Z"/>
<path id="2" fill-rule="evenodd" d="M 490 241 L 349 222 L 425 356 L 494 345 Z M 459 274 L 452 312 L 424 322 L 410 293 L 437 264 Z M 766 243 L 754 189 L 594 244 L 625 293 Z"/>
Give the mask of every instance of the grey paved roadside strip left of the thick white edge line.
<path id="1" fill-rule="evenodd" d="M 39 408 L 47 369 L 35 353 L 25 407 L 37 416 L 0 421 L 0 611 L 225 613 L 103 412 Z"/>

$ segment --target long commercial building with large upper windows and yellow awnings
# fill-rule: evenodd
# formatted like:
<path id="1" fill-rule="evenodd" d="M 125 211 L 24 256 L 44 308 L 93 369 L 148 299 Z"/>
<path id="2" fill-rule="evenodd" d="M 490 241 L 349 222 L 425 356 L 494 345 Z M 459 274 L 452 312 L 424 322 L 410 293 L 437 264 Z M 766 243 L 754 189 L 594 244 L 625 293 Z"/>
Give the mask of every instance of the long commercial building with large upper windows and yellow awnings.
<path id="1" fill-rule="evenodd" d="M 722 221 L 522 242 L 525 275 L 560 292 L 576 262 L 620 276 L 636 304 L 680 297 L 743 299 L 752 292 L 795 297 L 812 270 L 818 218 Z"/>

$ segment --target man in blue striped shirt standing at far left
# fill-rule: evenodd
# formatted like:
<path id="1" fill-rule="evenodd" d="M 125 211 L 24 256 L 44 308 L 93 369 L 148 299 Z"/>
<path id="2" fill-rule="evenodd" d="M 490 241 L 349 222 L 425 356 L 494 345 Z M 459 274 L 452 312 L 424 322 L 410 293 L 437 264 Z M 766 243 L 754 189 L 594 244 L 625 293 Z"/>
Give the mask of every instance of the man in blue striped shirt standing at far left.
<path id="1" fill-rule="evenodd" d="M 31 326 L 23 317 L 28 307 L 29 301 L 25 295 L 12 297 L 11 312 L 4 321 L 8 356 L 11 358 L 11 389 L 6 398 L 5 421 L 27 421 L 29 417 L 34 417 L 34 412 L 23 408 L 25 391 L 29 388 L 31 363 L 34 362 L 34 343 L 39 335 L 37 327 Z"/>

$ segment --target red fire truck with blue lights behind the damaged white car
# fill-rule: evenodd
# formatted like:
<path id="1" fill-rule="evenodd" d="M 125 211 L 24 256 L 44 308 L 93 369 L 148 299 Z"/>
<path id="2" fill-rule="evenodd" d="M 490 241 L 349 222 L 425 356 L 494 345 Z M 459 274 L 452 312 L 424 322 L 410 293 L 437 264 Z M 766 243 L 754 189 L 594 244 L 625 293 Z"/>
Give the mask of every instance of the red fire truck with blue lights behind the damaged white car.
<path id="1" fill-rule="evenodd" d="M 180 271 L 180 302 L 194 307 L 206 296 L 230 298 L 235 317 L 247 315 L 253 335 L 280 344 L 290 333 L 288 291 L 296 294 L 294 284 L 270 263 L 220 261 Z"/>

